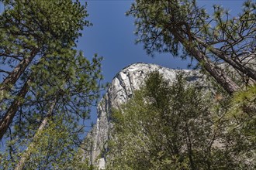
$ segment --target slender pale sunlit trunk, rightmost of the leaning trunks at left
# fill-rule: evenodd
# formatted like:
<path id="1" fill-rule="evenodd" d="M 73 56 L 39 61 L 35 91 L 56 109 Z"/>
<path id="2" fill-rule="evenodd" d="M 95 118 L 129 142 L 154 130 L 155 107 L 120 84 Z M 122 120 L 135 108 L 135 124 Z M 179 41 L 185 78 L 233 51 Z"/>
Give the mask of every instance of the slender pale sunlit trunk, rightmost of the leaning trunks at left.
<path id="1" fill-rule="evenodd" d="M 56 106 L 56 104 L 57 104 L 57 99 L 55 99 L 53 104 L 50 105 L 50 109 L 48 110 L 46 117 L 44 117 L 42 123 L 40 124 L 40 127 L 36 131 L 36 134 L 33 137 L 33 141 L 29 144 L 29 147 L 26 149 L 26 151 L 23 153 L 22 157 L 19 159 L 19 163 L 16 165 L 15 170 L 22 170 L 22 168 L 24 168 L 26 161 L 29 159 L 29 157 L 32 153 L 31 149 L 36 147 L 34 141 L 37 140 L 38 135 L 46 127 L 50 117 L 52 117 L 52 113 L 53 113 L 53 110 L 54 110 L 54 107 Z"/>

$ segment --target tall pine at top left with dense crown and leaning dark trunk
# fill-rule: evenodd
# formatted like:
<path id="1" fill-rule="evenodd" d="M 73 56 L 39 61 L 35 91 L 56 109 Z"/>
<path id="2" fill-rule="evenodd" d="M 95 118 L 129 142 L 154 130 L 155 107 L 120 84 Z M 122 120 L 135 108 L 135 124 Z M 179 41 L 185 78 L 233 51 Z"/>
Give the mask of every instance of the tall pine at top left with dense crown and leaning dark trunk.
<path id="1" fill-rule="evenodd" d="M 4 110 L 0 117 L 0 138 L 12 123 L 36 74 L 40 71 L 49 74 L 49 63 L 51 68 L 64 66 L 68 70 L 65 65 L 76 53 L 73 48 L 81 35 L 79 31 L 83 26 L 89 26 L 85 20 L 88 15 L 85 6 L 79 2 L 3 0 L 2 3 L 5 11 L 0 18 L 0 56 L 2 65 L 13 70 L 0 86 L 0 107 Z M 51 62 L 54 57 L 60 61 Z"/>

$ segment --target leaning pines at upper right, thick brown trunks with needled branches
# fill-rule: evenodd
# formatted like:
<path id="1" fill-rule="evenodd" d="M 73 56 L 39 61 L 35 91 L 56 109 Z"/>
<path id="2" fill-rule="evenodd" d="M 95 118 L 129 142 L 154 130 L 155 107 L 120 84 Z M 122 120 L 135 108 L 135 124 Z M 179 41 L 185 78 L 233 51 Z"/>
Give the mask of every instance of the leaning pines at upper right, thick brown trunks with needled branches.
<path id="1" fill-rule="evenodd" d="M 229 11 L 214 6 L 212 16 L 195 0 L 137 0 L 127 12 L 136 18 L 137 42 L 147 53 L 171 53 L 196 59 L 220 85 L 233 93 L 240 89 L 216 63 L 225 62 L 249 80 L 256 80 L 255 3 L 244 2 L 243 11 L 231 18 Z M 255 64 L 255 63 L 254 63 Z"/>

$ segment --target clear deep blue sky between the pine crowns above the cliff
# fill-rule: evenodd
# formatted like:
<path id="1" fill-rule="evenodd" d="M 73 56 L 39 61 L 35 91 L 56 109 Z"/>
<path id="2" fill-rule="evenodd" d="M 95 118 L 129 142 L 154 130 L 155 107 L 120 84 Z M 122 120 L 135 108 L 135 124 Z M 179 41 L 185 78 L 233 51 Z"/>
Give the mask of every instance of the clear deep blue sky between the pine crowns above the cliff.
<path id="1" fill-rule="evenodd" d="M 85 2 L 85 1 L 81 1 Z M 143 45 L 135 45 L 136 36 L 133 35 L 134 19 L 127 17 L 125 12 L 133 1 L 130 0 L 90 0 L 88 2 L 88 20 L 92 27 L 85 28 L 79 39 L 78 49 L 84 51 L 85 56 L 94 53 L 103 56 L 102 73 L 104 82 L 111 82 L 112 78 L 131 63 L 156 63 L 173 69 L 186 69 L 189 61 L 173 58 L 171 54 L 157 54 L 154 58 L 147 56 Z M 199 0 L 199 5 L 205 6 L 209 13 L 213 12 L 213 4 L 229 8 L 231 15 L 241 11 L 243 0 Z M 92 109 L 92 121 L 95 122 L 95 108 Z"/>

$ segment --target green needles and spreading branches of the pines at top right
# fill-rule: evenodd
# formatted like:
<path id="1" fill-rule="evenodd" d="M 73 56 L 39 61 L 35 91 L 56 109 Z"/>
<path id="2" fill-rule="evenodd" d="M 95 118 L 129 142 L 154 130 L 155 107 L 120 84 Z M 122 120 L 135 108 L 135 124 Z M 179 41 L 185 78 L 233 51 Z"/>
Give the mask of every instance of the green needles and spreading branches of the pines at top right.
<path id="1" fill-rule="evenodd" d="M 255 3 L 245 1 L 243 11 L 237 17 L 231 18 L 227 9 L 214 5 L 213 15 L 206 12 L 206 8 L 199 7 L 196 0 L 137 0 L 133 3 L 127 15 L 133 15 L 137 42 L 143 42 L 147 53 L 172 53 L 178 55 L 179 49 L 189 41 L 194 47 L 199 45 L 203 49 L 219 49 L 227 55 L 234 56 L 242 51 L 250 51 L 254 46 L 255 34 Z M 182 36 L 185 42 L 181 42 Z M 237 42 L 237 43 L 236 43 Z M 179 45 L 183 46 L 179 46 Z M 244 44 L 244 46 L 238 46 Z M 233 46 L 234 49 L 230 49 Z M 253 49 L 252 49 L 253 50 Z M 185 49 L 186 57 L 190 52 Z M 213 56 L 217 56 L 213 53 Z"/>

